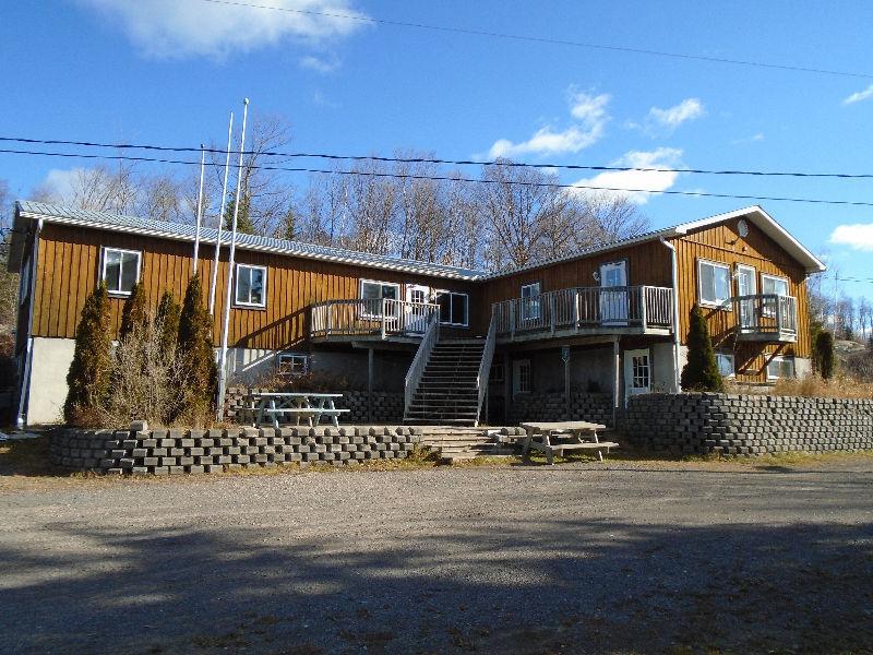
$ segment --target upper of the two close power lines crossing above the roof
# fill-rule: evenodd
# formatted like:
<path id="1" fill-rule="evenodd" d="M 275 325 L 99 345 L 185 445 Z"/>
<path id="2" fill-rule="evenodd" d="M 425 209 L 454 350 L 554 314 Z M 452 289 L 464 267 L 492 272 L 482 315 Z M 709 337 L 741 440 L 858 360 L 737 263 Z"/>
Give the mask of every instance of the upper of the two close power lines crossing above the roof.
<path id="1" fill-rule="evenodd" d="M 105 147 L 112 150 L 145 150 L 155 152 L 199 153 L 200 147 L 153 145 L 142 143 L 101 143 L 96 141 L 68 141 L 63 139 L 31 139 L 24 136 L 0 136 L 0 142 L 31 143 L 39 145 L 76 145 L 82 147 Z M 204 148 L 207 153 L 225 151 L 215 147 Z M 333 159 L 349 162 L 381 162 L 396 164 L 442 164 L 451 166 L 506 166 L 511 168 L 554 168 L 561 170 L 591 170 L 591 171 L 619 171 L 619 172 L 681 172 L 691 175 L 728 175 L 753 177 L 799 177 L 799 178 L 836 178 L 836 179 L 873 179 L 873 172 L 805 172 L 780 170 L 742 170 L 742 169 L 704 169 L 704 168 L 669 168 L 646 166 L 589 166 L 584 164 L 529 164 L 525 162 L 480 160 L 480 159 L 441 159 L 436 157 L 383 157 L 380 155 L 337 155 L 327 153 L 284 153 L 275 151 L 244 151 L 244 155 L 263 155 L 268 157 L 286 157 L 287 159 Z"/>

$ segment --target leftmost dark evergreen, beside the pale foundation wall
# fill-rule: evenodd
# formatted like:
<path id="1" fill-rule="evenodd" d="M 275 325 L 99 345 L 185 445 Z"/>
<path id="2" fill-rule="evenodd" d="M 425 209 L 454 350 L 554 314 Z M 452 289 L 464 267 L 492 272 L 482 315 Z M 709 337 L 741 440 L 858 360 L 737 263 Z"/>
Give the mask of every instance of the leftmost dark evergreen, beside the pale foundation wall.
<path id="1" fill-rule="evenodd" d="M 75 330 L 75 348 L 67 373 L 63 417 L 69 424 L 93 421 L 109 393 L 111 378 L 111 332 L 109 294 L 100 283 L 85 299 Z"/>

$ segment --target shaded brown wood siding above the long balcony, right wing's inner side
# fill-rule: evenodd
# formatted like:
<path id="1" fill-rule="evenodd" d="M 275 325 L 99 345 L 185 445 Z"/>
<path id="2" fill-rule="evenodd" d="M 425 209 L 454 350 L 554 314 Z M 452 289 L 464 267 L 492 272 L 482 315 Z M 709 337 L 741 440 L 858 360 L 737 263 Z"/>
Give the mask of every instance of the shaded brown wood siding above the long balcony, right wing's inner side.
<path id="1" fill-rule="evenodd" d="M 627 284 L 631 286 L 670 286 L 671 262 L 670 251 L 658 241 L 638 243 L 629 248 L 620 248 L 601 252 L 591 257 L 540 266 L 522 273 L 498 277 L 486 283 L 483 297 L 489 313 L 480 317 L 479 330 L 488 329 L 490 307 L 494 302 L 519 298 L 522 286 L 533 282 L 542 284 L 542 293 L 555 291 L 572 287 L 598 286 L 594 278 L 600 264 L 627 261 Z"/>

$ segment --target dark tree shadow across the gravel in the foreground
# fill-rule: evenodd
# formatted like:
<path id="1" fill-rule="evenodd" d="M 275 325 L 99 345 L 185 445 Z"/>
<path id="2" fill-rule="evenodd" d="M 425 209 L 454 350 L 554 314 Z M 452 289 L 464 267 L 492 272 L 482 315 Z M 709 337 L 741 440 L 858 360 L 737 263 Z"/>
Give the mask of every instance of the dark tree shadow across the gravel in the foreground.
<path id="1" fill-rule="evenodd" d="M 285 511 L 280 498 L 264 505 Z M 86 543 L 83 555 L 0 547 L 3 651 L 873 648 L 871 523 L 679 529 L 482 516 L 381 543 L 246 523 L 141 532 L 69 522 L 50 529 Z"/>

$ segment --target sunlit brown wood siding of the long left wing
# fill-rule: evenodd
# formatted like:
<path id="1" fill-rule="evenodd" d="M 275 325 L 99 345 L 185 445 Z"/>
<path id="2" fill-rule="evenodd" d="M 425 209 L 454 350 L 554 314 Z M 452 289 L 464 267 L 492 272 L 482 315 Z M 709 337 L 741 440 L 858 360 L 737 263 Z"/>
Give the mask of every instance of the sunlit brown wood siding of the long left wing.
<path id="1" fill-rule="evenodd" d="M 46 224 L 40 235 L 38 276 L 34 302 L 33 334 L 72 338 L 87 295 L 96 287 L 100 249 L 123 248 L 142 252 L 140 279 L 145 284 L 148 302 L 156 307 L 165 289 L 181 302 L 192 273 L 193 245 L 184 241 L 141 237 L 92 228 Z M 208 301 L 214 249 L 200 249 L 199 269 L 204 279 L 203 301 Z M 227 248 L 218 264 L 218 290 L 213 333 L 220 333 L 227 279 Z M 478 290 L 470 283 L 338 264 L 304 258 L 237 249 L 237 262 L 267 269 L 267 301 L 264 309 L 231 308 L 231 346 L 283 349 L 306 342 L 309 306 L 328 299 L 357 298 L 360 279 L 378 279 L 402 285 L 421 284 L 470 294 L 470 314 L 475 318 Z M 112 298 L 112 329 L 121 322 L 123 298 Z M 475 330 L 468 331 L 470 334 Z"/>

